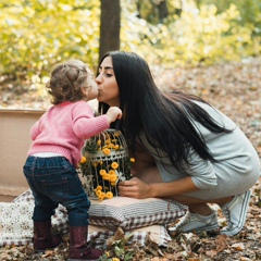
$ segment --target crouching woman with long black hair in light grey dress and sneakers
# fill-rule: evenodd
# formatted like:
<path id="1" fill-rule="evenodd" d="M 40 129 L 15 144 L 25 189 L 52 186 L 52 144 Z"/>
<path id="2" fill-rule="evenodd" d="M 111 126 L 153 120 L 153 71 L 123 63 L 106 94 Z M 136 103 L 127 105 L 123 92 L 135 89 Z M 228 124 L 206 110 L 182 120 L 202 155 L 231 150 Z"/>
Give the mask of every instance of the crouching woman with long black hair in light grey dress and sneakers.
<path id="1" fill-rule="evenodd" d="M 136 159 L 134 177 L 119 186 L 121 196 L 188 206 L 176 232 L 217 228 L 208 204 L 216 203 L 227 220 L 221 233 L 239 233 L 260 176 L 258 154 L 239 127 L 198 97 L 165 96 L 135 53 L 107 53 L 96 83 L 103 113 L 109 107 L 122 109 L 122 129 Z"/>

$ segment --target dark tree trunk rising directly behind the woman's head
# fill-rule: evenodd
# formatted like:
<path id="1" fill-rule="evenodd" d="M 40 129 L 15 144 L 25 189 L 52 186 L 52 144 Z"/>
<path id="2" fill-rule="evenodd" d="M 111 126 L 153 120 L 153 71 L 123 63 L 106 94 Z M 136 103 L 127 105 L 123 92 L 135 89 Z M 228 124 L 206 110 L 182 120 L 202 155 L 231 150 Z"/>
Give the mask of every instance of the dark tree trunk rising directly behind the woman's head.
<path id="1" fill-rule="evenodd" d="M 108 51 L 120 49 L 120 0 L 101 0 L 99 59 Z"/>

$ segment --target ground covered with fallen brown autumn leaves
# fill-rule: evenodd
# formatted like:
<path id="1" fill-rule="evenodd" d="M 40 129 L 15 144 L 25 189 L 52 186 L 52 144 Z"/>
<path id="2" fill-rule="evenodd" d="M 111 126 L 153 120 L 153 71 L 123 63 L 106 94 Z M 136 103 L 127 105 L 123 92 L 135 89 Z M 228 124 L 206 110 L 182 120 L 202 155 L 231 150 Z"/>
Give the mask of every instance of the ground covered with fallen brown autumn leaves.
<path id="1" fill-rule="evenodd" d="M 152 67 L 159 87 L 170 91 L 181 89 L 199 95 L 233 119 L 251 140 L 261 158 L 261 60 L 249 59 L 243 62 L 224 63 L 192 69 Z M 30 83 L 0 82 L 0 104 L 2 109 L 46 109 L 48 98 Z M 115 249 L 121 260 L 261 260 L 261 179 L 252 188 L 253 196 L 244 229 L 235 237 L 186 233 L 173 235 L 166 248 L 159 248 L 148 237 L 146 247 L 128 245 L 119 239 L 108 247 L 108 254 L 114 257 Z M 220 209 L 220 225 L 225 219 Z M 127 235 L 126 235 L 127 236 Z M 36 254 L 30 246 L 0 248 L 0 260 L 66 260 L 69 237 L 54 251 Z M 116 248 L 117 247 L 117 248 Z M 119 253 L 119 254 L 120 254 Z M 127 257 L 130 257 L 127 259 Z M 125 258 L 125 259 L 124 259 Z M 103 260 L 109 260 L 103 258 Z"/>

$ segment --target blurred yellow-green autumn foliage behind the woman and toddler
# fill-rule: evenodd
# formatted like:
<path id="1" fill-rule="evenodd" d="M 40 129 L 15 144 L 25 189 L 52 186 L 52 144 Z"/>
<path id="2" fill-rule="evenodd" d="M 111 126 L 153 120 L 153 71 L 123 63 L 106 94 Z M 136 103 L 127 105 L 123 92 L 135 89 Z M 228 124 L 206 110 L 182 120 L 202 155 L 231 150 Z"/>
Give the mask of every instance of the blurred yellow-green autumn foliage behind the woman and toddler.
<path id="1" fill-rule="evenodd" d="M 261 53 L 260 0 L 1 0 L 0 27 L 1 82 L 45 82 L 69 58 L 96 70 L 113 46 L 165 67 Z"/>

